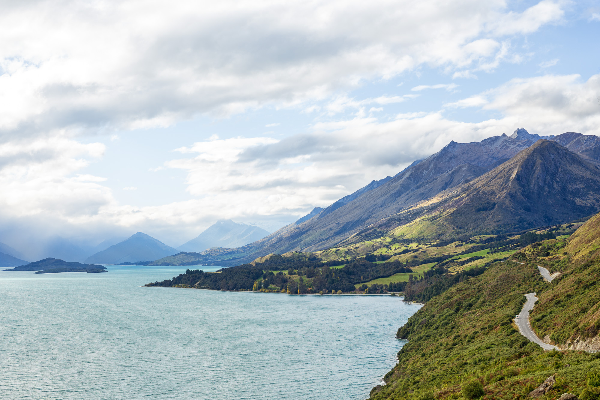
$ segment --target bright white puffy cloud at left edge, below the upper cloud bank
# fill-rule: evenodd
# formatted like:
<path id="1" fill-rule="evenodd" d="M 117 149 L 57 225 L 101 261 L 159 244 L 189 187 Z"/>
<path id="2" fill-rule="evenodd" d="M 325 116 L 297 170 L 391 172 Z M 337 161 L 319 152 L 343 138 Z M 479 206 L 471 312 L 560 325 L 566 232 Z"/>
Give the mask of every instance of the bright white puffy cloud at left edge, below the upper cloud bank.
<path id="1" fill-rule="evenodd" d="M 86 220 L 113 201 L 110 190 L 98 184 L 105 178 L 77 171 L 104 153 L 99 143 L 46 138 L 0 144 L 0 209 L 4 216 L 40 214 L 68 222 Z"/>

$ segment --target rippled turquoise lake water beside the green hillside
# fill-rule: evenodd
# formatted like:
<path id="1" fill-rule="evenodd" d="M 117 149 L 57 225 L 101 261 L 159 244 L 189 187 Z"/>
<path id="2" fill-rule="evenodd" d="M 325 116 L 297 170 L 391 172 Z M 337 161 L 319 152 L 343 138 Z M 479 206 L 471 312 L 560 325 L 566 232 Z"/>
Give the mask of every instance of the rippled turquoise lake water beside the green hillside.
<path id="1" fill-rule="evenodd" d="M 0 272 L 0 397 L 366 399 L 420 307 L 141 287 L 186 268 Z"/>

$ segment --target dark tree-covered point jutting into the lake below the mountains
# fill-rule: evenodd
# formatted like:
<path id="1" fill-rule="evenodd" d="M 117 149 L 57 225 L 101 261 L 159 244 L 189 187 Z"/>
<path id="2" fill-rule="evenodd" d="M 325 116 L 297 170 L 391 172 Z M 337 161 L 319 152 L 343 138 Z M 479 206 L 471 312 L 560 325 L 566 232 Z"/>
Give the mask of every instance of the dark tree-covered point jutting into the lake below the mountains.
<path id="1" fill-rule="evenodd" d="M 287 269 L 288 274 L 273 272 L 280 269 Z M 277 288 L 293 294 L 319 291 L 350 292 L 355 290 L 356 283 L 405 272 L 412 270 L 400 261 L 375 264 L 365 259 L 354 259 L 341 268 L 331 268 L 328 263 L 316 262 L 300 255 L 289 258 L 274 255 L 263 263 L 222 268 L 214 273 L 188 269 L 179 276 L 173 276 L 173 279 L 148 283 L 146 286 L 181 285 L 214 290 Z M 296 277 L 298 275 L 299 279 Z"/>

